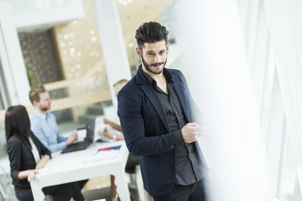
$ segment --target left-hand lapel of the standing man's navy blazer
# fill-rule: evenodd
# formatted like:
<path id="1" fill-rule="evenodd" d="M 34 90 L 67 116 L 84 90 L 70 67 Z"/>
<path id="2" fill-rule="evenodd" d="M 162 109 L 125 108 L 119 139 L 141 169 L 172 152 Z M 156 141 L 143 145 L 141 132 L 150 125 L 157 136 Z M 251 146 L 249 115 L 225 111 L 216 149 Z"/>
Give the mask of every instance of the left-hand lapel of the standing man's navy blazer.
<path id="1" fill-rule="evenodd" d="M 150 102 L 152 103 L 153 107 L 155 108 L 155 111 L 157 112 L 157 114 L 160 116 L 162 122 L 164 123 L 167 131 L 170 133 L 171 128 L 169 126 L 169 122 L 168 122 L 166 113 L 164 111 L 161 100 L 158 97 L 158 95 L 156 94 L 153 86 L 151 84 L 144 84 L 144 85 L 142 85 L 142 90 L 149 98 Z"/>

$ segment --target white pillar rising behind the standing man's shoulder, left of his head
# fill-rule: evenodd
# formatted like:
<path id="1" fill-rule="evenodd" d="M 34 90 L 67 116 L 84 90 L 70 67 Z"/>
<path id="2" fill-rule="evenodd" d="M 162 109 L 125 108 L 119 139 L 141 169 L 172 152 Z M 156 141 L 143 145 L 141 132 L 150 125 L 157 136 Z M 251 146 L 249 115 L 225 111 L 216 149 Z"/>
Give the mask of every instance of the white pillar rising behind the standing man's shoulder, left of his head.
<path id="1" fill-rule="evenodd" d="M 93 0 L 93 4 L 111 96 L 113 104 L 117 108 L 112 86 L 118 80 L 131 79 L 117 5 L 114 0 Z M 133 32 L 133 38 L 134 35 Z"/>

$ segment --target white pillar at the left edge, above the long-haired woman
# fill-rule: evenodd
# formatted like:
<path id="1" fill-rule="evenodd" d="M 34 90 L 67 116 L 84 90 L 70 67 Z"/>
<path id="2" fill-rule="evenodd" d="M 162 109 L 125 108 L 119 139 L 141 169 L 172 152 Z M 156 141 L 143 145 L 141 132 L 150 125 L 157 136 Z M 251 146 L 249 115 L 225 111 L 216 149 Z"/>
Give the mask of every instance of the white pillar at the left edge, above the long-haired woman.
<path id="1" fill-rule="evenodd" d="M 11 105 L 29 106 L 29 80 L 10 1 L 0 1 L 0 57 Z"/>

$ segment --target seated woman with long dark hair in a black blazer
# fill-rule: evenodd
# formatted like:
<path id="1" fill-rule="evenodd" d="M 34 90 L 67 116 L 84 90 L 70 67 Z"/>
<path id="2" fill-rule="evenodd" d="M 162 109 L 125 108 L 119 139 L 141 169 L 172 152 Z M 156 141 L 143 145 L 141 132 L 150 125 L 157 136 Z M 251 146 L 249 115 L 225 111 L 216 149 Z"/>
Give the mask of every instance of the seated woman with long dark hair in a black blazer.
<path id="1" fill-rule="evenodd" d="M 7 110 L 5 132 L 16 196 L 20 201 L 32 201 L 30 181 L 35 179 L 38 169 L 46 165 L 50 152 L 31 132 L 24 106 L 13 106 Z M 85 200 L 77 182 L 44 187 L 42 191 L 58 201 L 69 201 L 71 197 L 77 201 Z"/>

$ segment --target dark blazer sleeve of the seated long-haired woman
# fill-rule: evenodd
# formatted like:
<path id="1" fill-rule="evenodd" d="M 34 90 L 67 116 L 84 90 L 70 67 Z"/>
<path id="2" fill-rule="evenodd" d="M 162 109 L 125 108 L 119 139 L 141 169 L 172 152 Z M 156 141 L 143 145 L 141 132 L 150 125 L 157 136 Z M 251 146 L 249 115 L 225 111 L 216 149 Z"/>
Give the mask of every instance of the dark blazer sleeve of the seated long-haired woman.
<path id="1" fill-rule="evenodd" d="M 21 141 L 11 139 L 7 143 L 7 152 L 11 163 L 11 175 L 19 181 L 18 174 L 21 171 Z"/>

